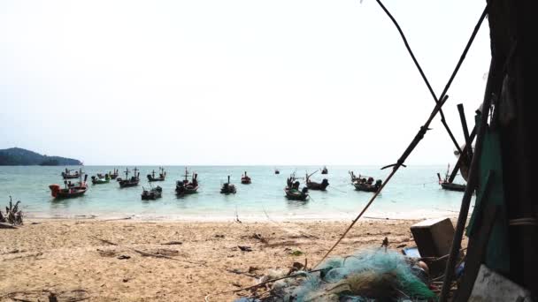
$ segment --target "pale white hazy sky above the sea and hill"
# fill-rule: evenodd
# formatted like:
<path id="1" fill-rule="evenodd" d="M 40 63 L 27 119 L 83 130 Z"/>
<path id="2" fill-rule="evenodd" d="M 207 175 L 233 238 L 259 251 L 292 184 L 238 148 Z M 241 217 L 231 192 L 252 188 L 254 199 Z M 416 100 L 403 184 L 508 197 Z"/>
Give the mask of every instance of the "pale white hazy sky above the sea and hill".
<path id="1" fill-rule="evenodd" d="M 385 0 L 437 95 L 485 1 Z M 463 144 L 487 20 L 444 106 Z M 0 2 L 0 148 L 99 164 L 396 162 L 434 108 L 374 0 Z M 437 117 L 408 164 L 454 162 Z"/>

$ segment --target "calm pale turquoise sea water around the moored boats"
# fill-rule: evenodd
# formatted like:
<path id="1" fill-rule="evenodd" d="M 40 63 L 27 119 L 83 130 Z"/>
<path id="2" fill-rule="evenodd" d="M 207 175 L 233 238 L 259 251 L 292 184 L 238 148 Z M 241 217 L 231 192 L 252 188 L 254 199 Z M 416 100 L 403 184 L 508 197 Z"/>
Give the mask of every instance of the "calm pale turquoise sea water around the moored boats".
<path id="1" fill-rule="evenodd" d="M 85 166 L 83 171 L 90 176 L 112 170 L 111 166 Z M 119 171 L 126 167 L 117 167 Z M 134 167 L 129 167 L 132 170 Z M 270 166 L 198 166 L 188 167 L 196 171 L 200 182 L 198 193 L 177 198 L 174 193 L 175 181 L 181 179 L 185 167 L 165 167 L 167 177 L 164 182 L 154 185 L 163 187 L 163 197 L 159 200 L 142 201 L 142 186 L 149 187 L 146 175 L 158 167 L 142 166 L 141 182 L 137 187 L 119 188 L 115 180 L 104 185 L 89 185 L 88 192 L 69 200 L 55 200 L 50 196 L 49 185 L 62 184 L 60 173 L 65 167 L 0 167 L 0 206 L 12 195 L 13 200 L 21 200 L 27 217 L 77 217 L 96 215 L 97 217 L 126 217 L 139 219 L 186 219 L 186 220 L 227 220 L 236 215 L 242 220 L 288 219 L 329 219 L 346 220 L 357 215 L 373 193 L 354 190 L 350 184 L 349 170 L 356 175 L 374 178 L 388 176 L 389 170 L 373 166 L 328 166 L 328 175 L 319 172 L 312 178 L 329 180 L 327 192 L 311 191 L 307 201 L 291 201 L 284 197 L 286 178 L 296 170 L 297 177 L 304 177 L 305 171 L 312 172 L 321 167 L 279 167 L 280 175 L 274 174 Z M 78 169 L 78 167 L 70 167 Z M 251 185 L 241 185 L 243 171 L 252 178 Z M 463 193 L 448 192 L 437 184 L 436 173 L 444 173 L 446 166 L 410 166 L 396 173 L 365 216 L 425 218 L 442 215 L 456 215 Z M 237 187 L 237 193 L 219 193 L 227 175 Z M 457 182 L 462 182 L 457 178 Z M 301 180 L 304 184 L 304 180 Z"/>

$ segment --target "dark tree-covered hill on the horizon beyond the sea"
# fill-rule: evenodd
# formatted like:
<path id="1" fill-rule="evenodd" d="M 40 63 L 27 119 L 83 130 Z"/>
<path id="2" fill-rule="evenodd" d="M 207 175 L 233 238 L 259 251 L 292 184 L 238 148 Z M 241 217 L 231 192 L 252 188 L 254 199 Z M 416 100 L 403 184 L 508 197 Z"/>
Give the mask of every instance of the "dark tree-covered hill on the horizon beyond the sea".
<path id="1" fill-rule="evenodd" d="M 40 155 L 19 147 L 0 150 L 0 166 L 79 166 L 82 162 L 60 156 Z"/>

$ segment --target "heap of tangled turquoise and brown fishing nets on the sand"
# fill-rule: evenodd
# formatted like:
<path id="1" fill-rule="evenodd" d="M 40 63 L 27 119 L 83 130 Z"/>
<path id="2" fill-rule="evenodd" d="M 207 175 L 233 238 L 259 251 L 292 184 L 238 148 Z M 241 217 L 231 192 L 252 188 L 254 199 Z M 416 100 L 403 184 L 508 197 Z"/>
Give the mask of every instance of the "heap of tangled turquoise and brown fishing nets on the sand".
<path id="1" fill-rule="evenodd" d="M 427 271 L 396 251 L 368 249 L 330 258 L 315 270 L 270 270 L 235 302 L 433 301 Z M 261 291 L 260 291 L 261 290 Z M 265 290 L 265 291 L 263 291 Z"/>

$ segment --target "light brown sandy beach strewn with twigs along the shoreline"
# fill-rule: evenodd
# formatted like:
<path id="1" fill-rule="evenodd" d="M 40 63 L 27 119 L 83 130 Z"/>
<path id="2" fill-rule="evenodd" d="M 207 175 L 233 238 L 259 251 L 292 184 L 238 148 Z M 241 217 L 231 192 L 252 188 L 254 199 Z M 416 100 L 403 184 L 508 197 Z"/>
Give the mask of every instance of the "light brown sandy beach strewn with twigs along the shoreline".
<path id="1" fill-rule="evenodd" d="M 50 292 L 58 301 L 233 301 L 241 296 L 232 291 L 268 269 L 317 263 L 350 223 L 33 222 L 0 230 L 2 301 L 46 300 Z M 390 248 L 412 246 L 415 222 L 360 221 L 334 255 L 379 247 L 385 237 Z"/>

